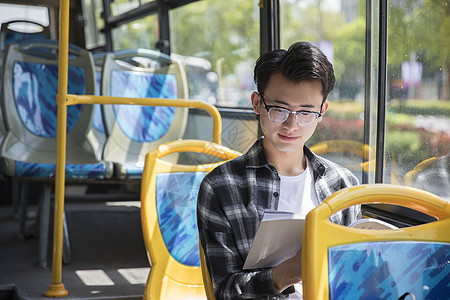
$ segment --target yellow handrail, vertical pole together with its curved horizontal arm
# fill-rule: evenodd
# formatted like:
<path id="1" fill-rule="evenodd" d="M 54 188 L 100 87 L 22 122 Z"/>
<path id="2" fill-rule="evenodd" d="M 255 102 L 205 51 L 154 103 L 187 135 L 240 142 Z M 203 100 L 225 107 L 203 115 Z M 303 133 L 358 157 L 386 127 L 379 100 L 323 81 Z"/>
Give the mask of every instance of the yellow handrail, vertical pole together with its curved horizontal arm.
<path id="1" fill-rule="evenodd" d="M 216 107 L 205 102 L 186 99 L 124 98 L 110 96 L 67 94 L 69 65 L 69 7 L 70 0 L 60 0 L 59 28 L 59 74 L 58 94 L 56 95 L 57 133 L 56 133 L 56 174 L 55 174 L 55 213 L 53 227 L 52 282 L 44 293 L 46 297 L 64 297 L 69 292 L 62 283 L 62 239 L 64 214 L 64 188 L 66 165 L 66 119 L 67 106 L 76 104 L 132 104 L 149 106 L 189 107 L 206 110 L 213 118 L 213 142 L 221 144 L 222 121 Z"/>

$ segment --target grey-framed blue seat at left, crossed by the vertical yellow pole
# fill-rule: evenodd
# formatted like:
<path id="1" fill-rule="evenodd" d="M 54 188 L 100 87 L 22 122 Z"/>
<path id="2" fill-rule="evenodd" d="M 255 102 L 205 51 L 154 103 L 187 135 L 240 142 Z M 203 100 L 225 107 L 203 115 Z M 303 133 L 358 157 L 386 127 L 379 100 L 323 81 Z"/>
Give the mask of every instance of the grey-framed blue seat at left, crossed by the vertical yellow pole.
<path id="1" fill-rule="evenodd" d="M 58 88 L 58 43 L 24 42 L 8 46 L 2 68 L 1 105 L 6 135 L 0 147 L 0 164 L 14 179 L 45 183 L 39 225 L 39 263 L 45 267 L 51 185 L 56 171 L 56 93 Z M 68 91 L 93 94 L 94 67 L 89 52 L 70 47 Z M 113 165 L 95 153 L 92 105 L 67 109 L 66 178 L 76 181 L 111 178 Z M 21 193 L 26 195 L 26 184 Z M 26 199 L 21 198 L 20 222 L 25 222 Z M 20 226 L 24 234 L 24 226 Z"/>

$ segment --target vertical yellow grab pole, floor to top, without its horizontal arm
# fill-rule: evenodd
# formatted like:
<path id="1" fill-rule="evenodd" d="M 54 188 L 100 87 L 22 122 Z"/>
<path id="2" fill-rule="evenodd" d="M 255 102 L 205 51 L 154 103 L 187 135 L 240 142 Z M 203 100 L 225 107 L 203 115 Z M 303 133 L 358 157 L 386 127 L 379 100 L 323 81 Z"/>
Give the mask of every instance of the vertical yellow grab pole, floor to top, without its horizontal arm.
<path id="1" fill-rule="evenodd" d="M 46 297 L 68 295 L 62 283 L 62 239 L 64 214 L 64 186 L 66 167 L 66 119 L 67 77 L 69 55 L 69 0 L 60 0 L 59 6 L 59 54 L 58 54 L 58 107 L 56 132 L 55 216 L 53 227 L 52 283 L 45 292 Z"/>

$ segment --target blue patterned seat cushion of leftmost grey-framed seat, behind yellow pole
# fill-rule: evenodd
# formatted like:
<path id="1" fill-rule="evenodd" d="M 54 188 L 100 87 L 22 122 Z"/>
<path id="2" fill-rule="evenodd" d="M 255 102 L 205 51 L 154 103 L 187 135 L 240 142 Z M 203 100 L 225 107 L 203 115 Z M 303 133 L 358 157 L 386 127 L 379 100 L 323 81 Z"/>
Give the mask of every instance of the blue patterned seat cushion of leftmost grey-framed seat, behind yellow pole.
<path id="1" fill-rule="evenodd" d="M 56 164 L 32 163 L 15 161 L 15 176 L 34 178 L 55 178 Z M 66 165 L 66 178 L 71 179 L 104 179 L 106 164 L 103 162 L 75 165 Z"/>

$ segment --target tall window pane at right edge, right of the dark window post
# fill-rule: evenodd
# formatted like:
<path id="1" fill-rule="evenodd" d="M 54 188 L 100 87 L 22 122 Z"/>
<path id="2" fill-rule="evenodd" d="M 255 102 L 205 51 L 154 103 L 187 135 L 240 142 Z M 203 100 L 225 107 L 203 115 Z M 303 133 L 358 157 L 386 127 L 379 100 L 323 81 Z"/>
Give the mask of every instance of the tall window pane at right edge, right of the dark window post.
<path id="1" fill-rule="evenodd" d="M 450 3 L 388 4 L 384 178 L 450 199 Z"/>

